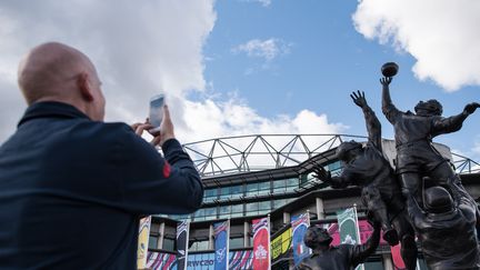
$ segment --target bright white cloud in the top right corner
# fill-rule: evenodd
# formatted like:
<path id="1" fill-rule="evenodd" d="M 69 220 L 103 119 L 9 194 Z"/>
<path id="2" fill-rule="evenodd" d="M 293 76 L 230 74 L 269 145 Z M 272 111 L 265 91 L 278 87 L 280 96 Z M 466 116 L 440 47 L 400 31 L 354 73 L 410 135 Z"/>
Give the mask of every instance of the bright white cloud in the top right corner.
<path id="1" fill-rule="evenodd" d="M 360 0 L 357 31 L 417 59 L 413 72 L 447 91 L 480 84 L 480 1 Z"/>

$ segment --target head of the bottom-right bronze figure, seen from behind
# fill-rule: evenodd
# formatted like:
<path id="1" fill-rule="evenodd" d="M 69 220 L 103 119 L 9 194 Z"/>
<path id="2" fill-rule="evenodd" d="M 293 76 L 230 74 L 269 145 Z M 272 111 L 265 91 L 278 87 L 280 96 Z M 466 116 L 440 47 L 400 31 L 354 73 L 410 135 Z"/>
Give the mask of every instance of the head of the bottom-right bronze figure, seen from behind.
<path id="1" fill-rule="evenodd" d="M 424 207 L 428 212 L 444 213 L 453 209 L 453 199 L 442 187 L 427 189 L 424 200 Z"/>

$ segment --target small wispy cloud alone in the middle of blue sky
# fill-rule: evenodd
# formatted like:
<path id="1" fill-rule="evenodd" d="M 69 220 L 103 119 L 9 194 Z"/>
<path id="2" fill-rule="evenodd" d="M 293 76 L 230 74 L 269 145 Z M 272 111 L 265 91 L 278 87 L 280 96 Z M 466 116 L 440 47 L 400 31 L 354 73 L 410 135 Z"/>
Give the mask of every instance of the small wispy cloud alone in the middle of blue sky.
<path id="1" fill-rule="evenodd" d="M 249 57 L 263 58 L 271 61 L 274 58 L 289 53 L 291 44 L 280 39 L 270 38 L 267 40 L 252 39 L 232 49 L 233 52 L 246 52 Z"/>

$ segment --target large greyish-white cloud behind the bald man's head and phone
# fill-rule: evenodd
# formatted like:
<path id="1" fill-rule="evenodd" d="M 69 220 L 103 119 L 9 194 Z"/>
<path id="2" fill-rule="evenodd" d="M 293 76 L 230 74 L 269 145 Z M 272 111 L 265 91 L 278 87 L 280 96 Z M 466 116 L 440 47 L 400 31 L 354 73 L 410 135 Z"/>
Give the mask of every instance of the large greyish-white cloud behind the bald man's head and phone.
<path id="1" fill-rule="evenodd" d="M 97 66 L 107 120 L 144 119 L 149 97 L 163 90 L 178 126 L 184 126 L 181 99 L 206 88 L 201 52 L 214 21 L 213 0 L 2 1 L 0 108 L 12 117 L 2 113 L 0 140 L 13 132 L 26 108 L 16 87 L 18 61 L 33 46 L 51 40 L 80 49 Z"/>

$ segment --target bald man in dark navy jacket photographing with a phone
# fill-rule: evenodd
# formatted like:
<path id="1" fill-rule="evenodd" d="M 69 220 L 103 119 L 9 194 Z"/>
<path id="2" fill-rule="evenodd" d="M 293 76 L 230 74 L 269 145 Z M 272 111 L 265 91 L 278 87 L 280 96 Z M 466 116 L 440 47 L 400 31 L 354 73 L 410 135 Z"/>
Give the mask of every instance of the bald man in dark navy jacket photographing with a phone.
<path id="1" fill-rule="evenodd" d="M 0 269 L 137 269 L 139 218 L 203 198 L 168 108 L 151 144 L 148 123 L 104 123 L 96 68 L 61 43 L 33 48 L 18 82 L 29 107 L 0 147 Z"/>

